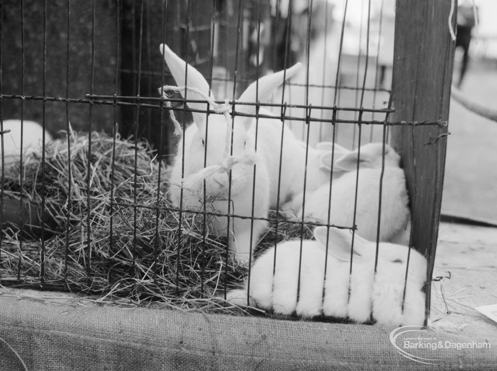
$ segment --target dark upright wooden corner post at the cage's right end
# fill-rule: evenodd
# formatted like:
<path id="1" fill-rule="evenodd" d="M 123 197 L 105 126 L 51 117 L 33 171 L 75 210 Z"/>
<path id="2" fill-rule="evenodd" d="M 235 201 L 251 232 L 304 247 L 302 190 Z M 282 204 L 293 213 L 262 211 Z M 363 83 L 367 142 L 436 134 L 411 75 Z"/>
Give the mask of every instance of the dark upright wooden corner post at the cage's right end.
<path id="1" fill-rule="evenodd" d="M 392 99 L 393 122 L 447 123 L 454 42 L 451 0 L 397 0 Z M 455 29 L 455 14 L 451 19 Z M 442 200 L 447 125 L 394 125 L 412 209 L 412 246 L 428 259 L 431 280 Z M 425 286 L 429 314 L 431 284 Z"/>

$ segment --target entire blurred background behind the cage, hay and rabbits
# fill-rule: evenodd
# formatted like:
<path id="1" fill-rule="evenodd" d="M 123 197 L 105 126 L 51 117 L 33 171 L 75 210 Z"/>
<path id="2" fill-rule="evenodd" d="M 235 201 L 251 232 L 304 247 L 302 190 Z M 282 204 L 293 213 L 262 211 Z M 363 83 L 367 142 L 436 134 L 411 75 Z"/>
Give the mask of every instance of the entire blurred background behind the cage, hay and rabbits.
<path id="1" fill-rule="evenodd" d="M 497 109 L 497 1 L 475 0 L 478 22 L 473 1 L 458 2 L 458 34 L 465 37 L 455 52 L 454 83 L 469 100 Z M 362 120 L 385 120 L 395 0 L 107 0 L 95 3 L 94 14 L 89 0 L 48 1 L 46 14 L 37 0 L 1 6 L 0 114 L 3 120 L 45 122 L 56 137 L 64 136 L 68 121 L 77 130 L 111 133 L 116 127 L 123 137 L 148 138 L 159 155 L 171 158 L 175 139 L 158 109 L 157 89 L 174 81 L 159 53 L 161 42 L 212 81 L 218 100 L 238 97 L 257 76 L 302 61 L 308 68 L 294 81 L 302 85 L 300 92 L 287 91 L 286 102 L 355 108 L 337 114 L 351 121 L 365 107 L 380 111 L 364 113 Z M 188 114 L 183 120 L 181 113 L 178 120 L 188 123 Z M 302 109 L 287 114 L 303 117 Z M 318 120 L 330 121 L 331 115 L 313 109 L 310 144 L 331 139 L 331 125 Z M 302 121 L 288 124 L 305 138 Z M 497 222 L 497 123 L 451 100 L 449 131 L 442 212 Z M 339 144 L 353 149 L 359 138 L 381 140 L 382 125 L 363 125 L 359 135 L 356 124 L 337 124 L 335 134 Z"/>

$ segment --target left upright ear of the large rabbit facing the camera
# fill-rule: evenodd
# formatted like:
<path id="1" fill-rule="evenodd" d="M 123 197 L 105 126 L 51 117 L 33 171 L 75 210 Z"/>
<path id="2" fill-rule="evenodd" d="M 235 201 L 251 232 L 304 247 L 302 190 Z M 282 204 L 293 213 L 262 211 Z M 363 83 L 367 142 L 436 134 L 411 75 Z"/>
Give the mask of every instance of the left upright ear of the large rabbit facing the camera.
<path id="1" fill-rule="evenodd" d="M 187 63 L 179 58 L 171 49 L 166 44 L 161 44 L 160 45 L 161 53 L 164 55 L 164 60 L 166 61 L 167 67 L 169 68 L 169 71 L 172 74 L 172 77 L 174 77 L 174 80 L 176 81 L 176 84 L 178 86 L 187 86 L 189 88 L 196 88 L 198 89 L 201 93 L 204 93 L 205 95 L 209 95 L 210 97 L 214 100 L 214 96 L 212 92 L 209 89 L 209 84 L 207 81 L 204 79 L 202 74 L 198 72 L 194 67 L 188 64 L 188 73 L 187 73 L 187 81 L 185 83 L 185 73 L 186 73 L 186 66 Z M 181 90 L 181 96 L 185 98 L 185 91 Z M 204 101 L 205 98 L 202 97 L 202 95 L 188 91 L 186 93 L 186 98 L 188 100 L 202 100 Z M 193 110 L 200 110 L 204 112 L 192 112 L 193 116 L 193 121 L 197 125 L 199 131 L 203 131 L 204 128 L 204 123 L 205 123 L 205 111 L 207 109 L 207 106 L 205 103 L 192 103 L 188 102 L 187 103 L 188 107 L 190 107 Z"/>

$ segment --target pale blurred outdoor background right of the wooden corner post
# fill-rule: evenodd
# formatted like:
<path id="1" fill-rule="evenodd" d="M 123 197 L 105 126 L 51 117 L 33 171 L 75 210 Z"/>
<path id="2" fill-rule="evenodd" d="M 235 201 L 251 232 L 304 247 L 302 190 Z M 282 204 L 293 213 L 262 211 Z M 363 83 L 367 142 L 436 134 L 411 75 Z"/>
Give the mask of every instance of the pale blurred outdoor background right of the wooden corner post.
<path id="1" fill-rule="evenodd" d="M 475 0 L 467 71 L 460 86 L 471 101 L 497 110 L 497 1 Z M 473 1 L 459 1 L 472 6 Z M 456 47 L 453 81 L 458 83 L 463 48 Z M 450 102 L 442 213 L 497 222 L 497 123 Z"/>

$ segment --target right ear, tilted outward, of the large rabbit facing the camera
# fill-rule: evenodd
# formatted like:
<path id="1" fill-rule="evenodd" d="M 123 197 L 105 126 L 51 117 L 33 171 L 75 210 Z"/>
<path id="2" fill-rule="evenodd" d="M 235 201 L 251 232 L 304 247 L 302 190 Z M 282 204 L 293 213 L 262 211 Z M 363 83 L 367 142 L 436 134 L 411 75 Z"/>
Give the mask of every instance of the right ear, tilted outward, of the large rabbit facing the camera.
<path id="1" fill-rule="evenodd" d="M 283 81 L 295 76 L 301 68 L 302 63 L 298 62 L 286 70 L 261 77 L 258 81 L 254 81 L 248 86 L 238 101 L 241 103 L 256 103 L 257 101 L 260 103 L 267 102 L 274 91 L 283 84 Z M 235 106 L 235 111 L 252 116 L 243 118 L 245 129 L 248 130 L 253 122 L 253 116 L 255 115 L 255 105 L 237 105 Z"/>

